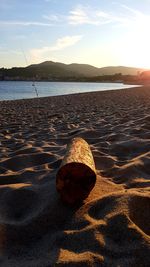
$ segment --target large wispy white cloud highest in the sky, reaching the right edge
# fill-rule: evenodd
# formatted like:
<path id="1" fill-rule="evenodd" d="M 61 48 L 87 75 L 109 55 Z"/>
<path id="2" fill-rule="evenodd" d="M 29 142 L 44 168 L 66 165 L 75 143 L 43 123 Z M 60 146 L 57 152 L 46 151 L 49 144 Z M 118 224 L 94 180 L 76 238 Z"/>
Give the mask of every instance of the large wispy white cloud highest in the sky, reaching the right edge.
<path id="1" fill-rule="evenodd" d="M 117 7 L 119 4 L 117 4 Z M 126 5 L 120 5 L 120 12 L 106 12 L 98 8 L 87 5 L 77 5 L 74 9 L 70 10 L 67 15 L 61 14 L 50 14 L 43 15 L 43 18 L 48 20 L 50 23 L 60 24 L 68 23 L 72 26 L 80 25 L 105 25 L 111 24 L 117 27 L 132 27 L 138 20 L 149 20 L 149 16 L 142 12 L 135 10 Z M 117 9 L 118 10 L 118 9 Z M 125 12 L 126 11 L 126 12 Z"/>

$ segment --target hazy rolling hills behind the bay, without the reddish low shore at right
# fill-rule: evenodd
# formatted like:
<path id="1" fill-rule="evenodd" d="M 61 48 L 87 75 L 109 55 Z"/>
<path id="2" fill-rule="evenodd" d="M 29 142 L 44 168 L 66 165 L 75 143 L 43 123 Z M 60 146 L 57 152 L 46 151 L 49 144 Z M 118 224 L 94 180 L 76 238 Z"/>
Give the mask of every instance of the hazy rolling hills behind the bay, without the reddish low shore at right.
<path id="1" fill-rule="evenodd" d="M 90 78 L 102 75 L 137 75 L 146 71 L 140 68 L 131 67 L 104 67 L 96 68 L 88 64 L 64 64 L 60 62 L 45 61 L 40 64 L 32 64 L 24 68 L 15 67 L 11 69 L 0 69 L 0 79 L 2 80 L 67 80 Z"/>

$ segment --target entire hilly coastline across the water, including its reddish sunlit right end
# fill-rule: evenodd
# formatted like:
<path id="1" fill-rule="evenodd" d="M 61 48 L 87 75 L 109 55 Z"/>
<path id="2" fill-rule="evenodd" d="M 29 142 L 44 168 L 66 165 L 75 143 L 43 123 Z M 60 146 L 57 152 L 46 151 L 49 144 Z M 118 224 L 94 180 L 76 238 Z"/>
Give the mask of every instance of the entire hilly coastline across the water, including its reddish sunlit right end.
<path id="1" fill-rule="evenodd" d="M 46 61 L 27 67 L 0 68 L 0 81 L 150 83 L 150 71 L 125 66 L 96 68 L 87 64 Z"/>

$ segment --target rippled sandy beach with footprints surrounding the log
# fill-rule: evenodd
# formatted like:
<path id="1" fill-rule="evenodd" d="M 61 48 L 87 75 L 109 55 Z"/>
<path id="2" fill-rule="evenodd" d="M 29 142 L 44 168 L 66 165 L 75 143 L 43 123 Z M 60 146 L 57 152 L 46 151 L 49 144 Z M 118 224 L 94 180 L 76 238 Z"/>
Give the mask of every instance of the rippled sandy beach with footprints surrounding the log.
<path id="1" fill-rule="evenodd" d="M 78 207 L 56 191 L 74 137 L 97 171 Z M 150 86 L 0 102 L 0 266 L 150 266 Z"/>

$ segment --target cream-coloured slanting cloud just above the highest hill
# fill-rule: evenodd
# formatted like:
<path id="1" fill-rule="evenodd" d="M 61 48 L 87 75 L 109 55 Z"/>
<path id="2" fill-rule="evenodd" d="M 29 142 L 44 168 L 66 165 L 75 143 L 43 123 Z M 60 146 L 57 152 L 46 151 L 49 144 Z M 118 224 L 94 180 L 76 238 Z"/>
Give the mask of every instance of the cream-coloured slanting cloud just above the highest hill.
<path id="1" fill-rule="evenodd" d="M 55 45 L 53 46 L 44 46 L 42 48 L 35 48 L 30 51 L 31 55 L 31 61 L 39 62 L 42 60 L 47 54 L 54 52 L 54 51 L 60 51 L 63 50 L 69 46 L 75 45 L 77 42 L 81 40 L 81 35 L 74 35 L 74 36 L 65 36 L 62 38 L 59 38 Z"/>

